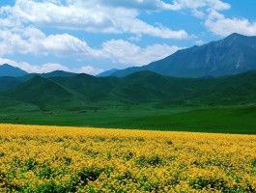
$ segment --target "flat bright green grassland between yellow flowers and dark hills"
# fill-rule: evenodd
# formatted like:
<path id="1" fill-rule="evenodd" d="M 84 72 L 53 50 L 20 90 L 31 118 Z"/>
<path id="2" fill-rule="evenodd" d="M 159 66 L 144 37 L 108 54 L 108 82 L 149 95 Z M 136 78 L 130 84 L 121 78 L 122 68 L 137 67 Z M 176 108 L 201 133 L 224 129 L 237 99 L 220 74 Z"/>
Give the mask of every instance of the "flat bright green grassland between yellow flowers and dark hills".
<path id="1" fill-rule="evenodd" d="M 52 113 L 52 114 L 51 114 Z M 0 112 L 0 123 L 256 134 L 256 106 L 116 106 L 85 112 Z"/>

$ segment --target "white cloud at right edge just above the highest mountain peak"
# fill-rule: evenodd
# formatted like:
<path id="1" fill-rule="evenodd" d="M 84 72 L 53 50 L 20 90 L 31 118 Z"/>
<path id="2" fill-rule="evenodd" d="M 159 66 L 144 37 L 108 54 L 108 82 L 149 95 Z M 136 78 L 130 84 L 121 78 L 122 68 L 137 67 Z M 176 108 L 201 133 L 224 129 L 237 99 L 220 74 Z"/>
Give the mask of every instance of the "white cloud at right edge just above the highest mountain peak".
<path id="1" fill-rule="evenodd" d="M 225 37 L 232 33 L 240 33 L 246 36 L 256 36 L 256 22 L 250 22 L 245 18 L 226 18 L 224 14 L 211 11 L 205 26 L 214 34 Z"/>

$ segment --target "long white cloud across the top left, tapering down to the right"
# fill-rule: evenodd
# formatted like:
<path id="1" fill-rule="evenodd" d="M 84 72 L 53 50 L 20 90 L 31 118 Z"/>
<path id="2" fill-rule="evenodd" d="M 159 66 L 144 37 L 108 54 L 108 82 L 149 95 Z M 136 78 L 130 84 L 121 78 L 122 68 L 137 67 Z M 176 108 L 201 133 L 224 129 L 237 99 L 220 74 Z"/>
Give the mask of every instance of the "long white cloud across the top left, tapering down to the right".
<path id="1" fill-rule="evenodd" d="M 1 9 L 4 10 L 2 12 L 9 15 L 6 22 L 13 19 L 41 27 L 51 26 L 98 33 L 131 33 L 162 39 L 185 39 L 188 37 L 185 30 L 157 27 L 138 19 L 140 13 L 138 9 L 140 8 L 164 10 L 170 9 L 170 6 L 160 0 L 127 0 L 122 1 L 122 4 L 116 0 L 107 1 L 107 3 L 102 0 L 16 0 L 14 7 Z M 0 20 L 1 22 L 4 23 Z M 10 24 L 6 23 L 5 25 Z"/>

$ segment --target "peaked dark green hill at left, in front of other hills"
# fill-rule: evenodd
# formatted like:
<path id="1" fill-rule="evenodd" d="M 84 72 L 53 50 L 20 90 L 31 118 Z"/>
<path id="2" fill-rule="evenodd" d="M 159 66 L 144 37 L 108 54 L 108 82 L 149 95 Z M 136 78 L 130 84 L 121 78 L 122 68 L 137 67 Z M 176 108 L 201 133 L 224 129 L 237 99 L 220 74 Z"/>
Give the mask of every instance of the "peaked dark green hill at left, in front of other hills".
<path id="1" fill-rule="evenodd" d="M 28 82 L 18 85 L 3 94 L 15 100 L 37 105 L 42 110 L 72 109 L 79 96 L 71 93 L 58 83 L 35 76 Z M 86 100 L 84 100 L 86 101 Z M 77 104 L 79 106 L 79 104 Z"/>

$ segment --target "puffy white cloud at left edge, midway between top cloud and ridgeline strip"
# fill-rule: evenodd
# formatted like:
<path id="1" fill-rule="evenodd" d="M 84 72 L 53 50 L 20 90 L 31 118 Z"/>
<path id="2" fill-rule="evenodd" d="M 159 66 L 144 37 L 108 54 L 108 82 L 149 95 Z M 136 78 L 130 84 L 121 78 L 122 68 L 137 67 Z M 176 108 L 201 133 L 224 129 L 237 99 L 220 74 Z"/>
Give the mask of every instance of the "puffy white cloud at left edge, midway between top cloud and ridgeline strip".
<path id="1" fill-rule="evenodd" d="M 55 56 L 91 55 L 85 41 L 69 35 L 45 36 L 36 28 L 0 30 L 0 56 L 14 53 Z M 88 53 L 88 54 L 87 54 Z"/>

